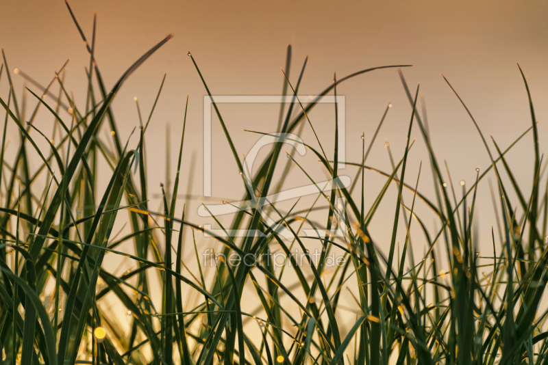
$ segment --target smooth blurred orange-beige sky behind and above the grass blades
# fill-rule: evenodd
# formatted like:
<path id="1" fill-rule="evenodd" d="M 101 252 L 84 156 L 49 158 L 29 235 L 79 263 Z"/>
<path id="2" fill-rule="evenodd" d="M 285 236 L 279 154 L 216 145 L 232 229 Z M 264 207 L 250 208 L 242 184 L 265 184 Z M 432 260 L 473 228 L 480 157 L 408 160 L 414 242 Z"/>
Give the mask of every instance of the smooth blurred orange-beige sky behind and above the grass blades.
<path id="1" fill-rule="evenodd" d="M 440 72 L 462 96 L 490 146 L 493 148 L 489 138 L 493 135 L 499 146 L 506 148 L 531 125 L 527 94 L 516 66 L 519 62 L 530 83 L 540 120 L 541 150 L 547 146 L 548 127 L 544 121 L 548 114 L 545 101 L 548 98 L 548 3 L 544 1 L 119 0 L 72 1 L 71 6 L 88 40 L 91 38 L 93 14 L 97 11 L 95 57 L 108 89 L 142 53 L 166 34 L 174 35 L 173 40 L 129 77 L 113 104 L 119 131 L 125 140 L 134 126 L 138 126 L 134 96 L 138 96 L 143 116 L 148 116 L 162 77 L 167 72 L 164 90 L 147 131 L 149 189 L 152 193 L 160 193 L 159 183 L 166 180 L 166 122 L 171 122 L 168 135 L 171 136 L 173 180 L 187 94 L 190 102 L 179 193 L 187 191 L 189 180 L 192 181 L 190 190 L 193 194 L 203 193 L 201 161 L 205 89 L 186 56 L 188 51 L 195 56 L 212 93 L 220 95 L 279 94 L 283 81 L 279 68 L 284 66 L 289 43 L 293 46 L 292 83 L 297 81 L 306 55 L 310 56 L 299 94 L 320 92 L 332 82 L 333 72 L 343 77 L 373 66 L 412 64 L 412 68 L 403 69 L 404 75 L 412 89 L 418 81 L 421 82 L 438 161 L 447 161 L 456 185 L 463 179 L 472 183 L 475 168 L 484 169 L 490 161 L 471 120 Z M 64 1 L 0 0 L 0 12 L 3 14 L 0 46 L 8 57 L 10 70 L 20 68 L 40 83 L 47 84 L 54 75 L 53 71 L 71 57 L 66 68 L 66 87 L 74 91 L 76 102 L 83 105 L 87 82 L 84 66 L 88 66 L 89 57 Z M 17 75 L 12 77 L 21 99 L 23 79 Z M 56 88 L 53 90 L 56 92 Z M 395 159 L 399 160 L 403 155 L 411 115 L 396 70 L 379 70 L 356 77 L 340 85 L 338 93 L 347 98 L 348 161 L 360 161 L 360 135 L 364 131 L 366 142 L 369 142 L 384 108 L 388 102 L 393 103 L 367 163 L 390 172 L 384 138 L 388 138 Z M 0 96 L 8 96 L 5 74 L 0 80 Z M 34 107 L 32 96 L 27 97 L 27 102 Z M 221 105 L 220 108 L 240 155 L 247 153 L 258 139 L 257 135 L 245 133 L 242 129 L 272 132 L 277 125 L 277 106 Z M 69 120 L 68 114 L 64 113 L 63 117 Z M 334 110 L 329 106 L 318 107 L 310 114 L 326 150 L 332 150 L 333 146 L 333 117 Z M 219 123 L 214 120 L 213 124 L 213 195 L 238 200 L 244 187 Z M 52 125 L 53 118 L 42 108 L 36 126 L 51 131 Z M 12 127 L 9 133 L 16 139 L 18 135 Z M 305 126 L 302 136 L 306 142 L 316 145 L 309 126 Z M 101 137 L 105 138 L 102 133 Z M 423 159 L 419 189 L 433 199 L 427 154 L 416 124 L 413 137 L 417 140 L 410 154 L 406 182 L 414 185 Z M 134 144 L 136 140 L 134 137 Z M 12 149 L 14 146 L 11 145 Z M 532 134 L 508 154 L 508 161 L 525 191 L 529 191 L 532 184 L 533 156 Z M 195 170 L 190 174 L 192 159 Z M 299 159 L 305 161 L 314 178 L 325 178 L 311 154 Z M 344 173 L 353 176 L 356 170 L 347 168 Z M 101 177 L 105 176 L 110 176 L 106 166 Z M 494 175 L 490 177 L 494 179 Z M 308 181 L 303 179 L 301 172 L 292 170 L 293 186 L 307 184 Z M 384 178 L 367 172 L 366 180 L 369 205 L 382 187 Z M 460 186 L 458 188 L 460 191 Z M 487 180 L 478 191 L 479 249 L 490 254 L 493 252 L 490 226 L 496 222 Z M 373 238 L 381 249 L 387 247 L 390 239 L 396 195 L 396 189 L 391 189 L 371 227 Z M 412 195 L 405 198 L 410 204 Z M 216 201 L 220 202 L 220 199 Z M 182 203 L 180 200 L 179 207 Z M 306 204 L 303 200 L 301 206 Z M 159 211 L 158 199 L 151 203 L 153 209 L 156 206 Z M 196 202 L 187 208 L 191 220 L 208 222 L 197 217 Z M 424 204 L 419 203 L 416 211 L 425 223 L 434 228 L 434 218 Z M 323 215 L 316 217 L 321 217 L 321 223 L 325 224 Z M 119 226 L 122 224 L 123 219 Z M 403 240 L 405 230 L 399 232 Z M 413 232 L 416 232 L 414 249 L 422 253 L 421 234 Z M 204 244 L 208 247 L 212 243 L 206 241 Z M 130 250 L 130 245 L 126 249 Z M 190 254 L 189 246 L 188 249 Z M 132 262 L 123 262 L 121 269 L 132 265 Z"/>

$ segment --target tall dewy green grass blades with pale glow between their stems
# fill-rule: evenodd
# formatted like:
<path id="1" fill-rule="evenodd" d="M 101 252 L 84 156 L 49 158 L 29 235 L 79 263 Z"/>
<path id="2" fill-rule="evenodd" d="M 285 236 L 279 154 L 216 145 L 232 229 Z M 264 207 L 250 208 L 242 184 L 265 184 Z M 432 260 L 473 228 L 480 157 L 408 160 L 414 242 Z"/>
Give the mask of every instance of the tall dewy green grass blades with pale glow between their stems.
<path id="1" fill-rule="evenodd" d="M 5 74 L 10 85 L 8 100 L 0 99 L 5 109 L 0 152 L 0 346 L 4 353 L 0 364 L 532 365 L 548 362 L 548 332 L 544 331 L 548 311 L 540 305 L 548 280 L 548 247 L 544 241 L 548 182 L 543 182 L 543 157 L 525 77 L 531 126 L 506 149 L 499 148 L 494 140 L 495 149 L 489 147 L 464 101 L 446 79 L 455 92 L 456 101 L 462 103 L 477 128 L 492 161 L 484 170 L 477 170 L 471 187 L 461 184 L 461 193 L 455 191 L 450 179 L 443 178 L 427 122 L 421 118 L 421 115 L 425 117 L 425 111 L 417 110 L 419 86 L 415 92 L 409 89 L 401 71 L 405 65 L 370 68 L 342 79 L 334 77 L 334 82 L 309 103 L 297 100 L 287 104 L 288 110 L 282 105 L 278 132 L 299 134 L 303 124 L 314 131 L 309 112 L 319 98 L 329 93 L 336 96 L 338 85 L 347 79 L 379 68 L 397 68 L 412 110 L 409 124 L 405 126 L 408 139 L 403 157 L 394 161 L 390 154 L 391 172 L 366 165 L 388 105 L 368 146 L 362 137 L 361 161 L 346 161 L 357 170 L 349 189 L 342 184 L 334 184 L 331 191 L 319 189 L 316 201 L 298 211 L 297 204 L 288 211 L 281 211 L 277 204 L 268 206 L 267 213 L 279 217 L 277 227 L 267 224 L 255 205 L 240 209 L 231 226 L 223 226 L 214 217 L 225 232 L 238 229 L 260 232 L 245 237 L 234 234 L 223 237 L 188 221 L 185 202 L 177 202 L 177 191 L 182 185 L 179 170 L 192 163 L 183 158 L 186 112 L 173 187 L 162 185 L 163 211 L 156 212 L 149 207 L 145 134 L 164 81 L 146 122 L 143 123 L 138 109 L 140 129 L 134 131 L 137 143 L 119 139 L 110 109 L 123 81 L 171 36 L 130 66 L 109 92 L 93 56 L 95 21 L 91 43 L 88 43 L 68 3 L 67 7 L 90 54 L 84 105 L 77 105 L 64 88 L 62 70 L 66 64 L 47 87 L 41 87 L 16 70 L 33 83 L 35 90 L 29 90 L 32 98 L 21 104 L 12 90 L 13 70 L 8 68 L 4 53 L 0 68 L 0 77 Z M 201 74 L 195 58 L 190 53 L 188 56 L 211 96 L 206 77 Z M 289 47 L 283 92 L 285 95 L 291 90 L 287 99 L 295 99 L 306 61 L 295 84 L 290 83 L 290 64 Z M 53 93 L 56 87 L 58 94 Z M 317 182 L 310 177 L 314 169 L 323 170 L 333 179 L 338 177 L 336 119 L 332 153 L 324 150 L 315 131 L 314 146 L 317 146 L 305 145 L 321 165 L 303 166 L 298 158 L 288 154 L 284 166 L 279 166 L 278 157 L 284 155 L 284 144 L 276 143 L 256 173 L 249 176 L 213 98 L 212 102 L 234 161 L 242 172 L 242 186 L 247 191 L 244 200 L 251 199 L 251 195 L 264 200 L 269 194 L 281 191 L 285 178 L 276 180 L 275 172 L 281 169 L 287 172 L 290 166 L 314 184 Z M 32 104 L 35 107 L 27 118 L 26 105 Z M 46 108 L 55 119 L 51 137 L 34 125 L 39 108 Z M 70 121 L 60 118 L 62 109 L 69 111 Z M 17 151 L 14 161 L 6 161 L 6 128 L 12 123 L 18 127 L 21 138 L 18 146 L 9 146 L 10 150 Z M 112 131 L 108 137 L 112 137 L 114 144 L 105 142 L 99 135 L 107 124 Z M 410 140 L 412 130 L 417 128 L 423 137 L 420 142 Z M 273 136 L 278 142 L 284 138 L 289 141 L 287 135 Z M 520 139 L 531 137 L 534 171 L 532 189 L 527 196 L 516 183 L 505 154 Z M 41 139 L 47 141 L 49 148 L 38 148 L 37 142 L 41 144 Z M 429 161 L 425 165 L 432 170 L 435 200 L 429 200 L 417 189 L 421 172 L 427 169 L 422 164 L 416 182 L 403 183 L 408 173 L 408 152 L 414 143 L 423 143 L 427 148 Z M 40 158 L 34 172 L 29 169 L 31 151 L 32 156 L 37 152 Z M 112 171 L 104 191 L 97 189 L 99 161 L 108 163 Z M 33 165 L 36 164 L 34 161 Z M 54 168 L 58 174 L 53 174 Z M 367 174 L 384 176 L 386 184 L 381 191 L 364 191 L 366 170 Z M 477 186 L 488 174 L 495 177 L 493 196 L 497 196 L 495 206 L 501 207 L 497 211 L 501 220 L 497 227 L 499 238 L 495 238 L 493 228 L 493 242 L 488 243 L 493 245 L 492 257 L 479 256 L 479 242 L 472 232 L 477 220 Z M 170 178 L 172 176 L 167 176 L 166 180 Z M 47 182 L 45 189 L 38 187 L 38 180 Z M 398 195 L 386 256 L 385 250 L 380 250 L 379 243 L 369 234 L 369 224 L 390 185 L 397 185 Z M 403 191 L 412 193 L 410 205 L 404 204 Z M 366 207 L 364 197 L 372 194 L 377 198 L 371 207 Z M 461 196 L 460 200 L 457 195 Z M 515 202 L 510 196 L 519 200 L 521 215 L 513 208 Z M 418 200 L 432 212 L 439 230 L 428 230 L 422 217 L 414 213 Z M 321 206 L 318 202 L 327 205 Z M 79 206 L 84 208 L 77 208 Z M 112 231 L 122 211 L 129 215 L 130 233 L 119 238 L 113 236 Z M 309 218 L 312 211 L 319 212 L 325 223 L 312 221 Z M 401 217 L 406 227 L 403 251 L 397 241 Z M 427 241 L 425 254 L 419 258 L 414 257 L 412 224 L 419 225 Z M 321 243 L 318 260 L 312 259 L 307 248 L 311 247 L 310 237 L 305 240 L 301 233 L 308 226 L 318 232 L 316 241 Z M 292 239 L 282 238 L 282 228 L 289 230 Z M 335 236 L 336 230 L 343 230 L 343 236 Z M 196 270 L 190 270 L 191 263 L 182 257 L 189 231 L 195 251 L 192 265 Z M 210 234 L 219 247 L 223 247 L 222 253 L 226 256 L 229 253 L 258 256 L 275 249 L 290 254 L 298 247 L 305 261 L 303 265 L 296 265 L 290 256 L 292 265 L 285 265 L 281 271 L 276 271 L 272 262 L 263 261 L 255 265 L 231 265 L 219 260 L 214 267 L 202 267 L 195 237 L 203 233 Z M 124 242 L 134 244 L 134 254 L 119 250 Z M 345 261 L 327 280 L 327 259 L 334 252 Z M 135 268 L 116 275 L 103 265 L 106 254 L 132 260 Z M 447 271 L 441 269 L 445 265 L 449 267 Z M 284 280 L 288 275 L 296 278 L 294 285 Z M 155 285 L 158 278 L 160 287 Z M 357 290 L 350 290 L 354 301 L 343 303 L 341 293 L 354 284 Z M 253 299 L 249 299 L 249 288 L 254 290 Z M 297 292 L 305 298 L 299 299 Z M 160 293 L 161 298 L 156 297 Z M 127 332 L 121 319 L 109 315 L 110 308 L 104 304 L 108 296 L 115 297 L 125 308 L 130 319 Z M 198 304 L 191 305 L 189 297 L 199 298 Z M 244 312 L 250 300 L 260 303 L 260 310 Z M 345 307 L 352 306 L 357 310 L 356 318 L 340 314 Z"/>

